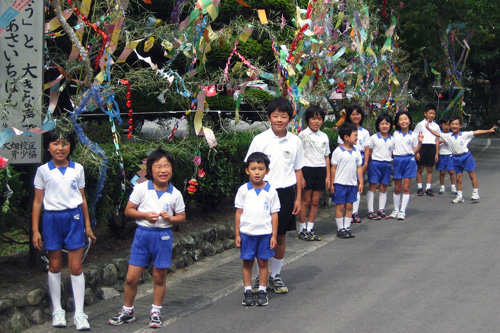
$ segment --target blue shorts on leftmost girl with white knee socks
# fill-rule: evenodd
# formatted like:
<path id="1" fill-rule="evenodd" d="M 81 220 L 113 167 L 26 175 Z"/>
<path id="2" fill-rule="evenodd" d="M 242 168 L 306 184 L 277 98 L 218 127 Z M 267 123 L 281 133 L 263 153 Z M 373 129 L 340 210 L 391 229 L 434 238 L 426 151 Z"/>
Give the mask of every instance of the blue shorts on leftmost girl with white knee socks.
<path id="1" fill-rule="evenodd" d="M 46 210 L 43 214 L 43 241 L 48 251 L 81 249 L 85 246 L 82 207 Z"/>

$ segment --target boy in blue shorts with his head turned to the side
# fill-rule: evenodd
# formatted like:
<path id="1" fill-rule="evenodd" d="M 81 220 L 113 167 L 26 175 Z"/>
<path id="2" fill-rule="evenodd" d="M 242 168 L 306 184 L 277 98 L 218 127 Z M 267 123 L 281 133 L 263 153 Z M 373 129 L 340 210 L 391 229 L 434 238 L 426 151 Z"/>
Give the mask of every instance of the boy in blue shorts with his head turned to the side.
<path id="1" fill-rule="evenodd" d="M 337 236 L 354 238 L 351 232 L 352 205 L 356 201 L 357 193 L 363 191 L 362 158 L 355 147 L 358 130 L 354 124 L 344 123 L 339 127 L 339 137 L 344 143 L 332 153 L 330 192 L 332 201 L 337 204 L 335 210 Z"/>

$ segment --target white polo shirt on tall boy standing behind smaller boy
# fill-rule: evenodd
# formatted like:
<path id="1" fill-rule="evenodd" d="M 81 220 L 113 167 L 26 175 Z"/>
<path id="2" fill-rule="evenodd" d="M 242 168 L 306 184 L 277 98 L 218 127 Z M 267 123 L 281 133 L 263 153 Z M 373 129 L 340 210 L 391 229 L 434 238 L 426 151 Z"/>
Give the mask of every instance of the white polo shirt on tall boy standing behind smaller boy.
<path id="1" fill-rule="evenodd" d="M 295 170 L 304 167 L 304 150 L 302 141 L 295 134 L 286 132 L 282 138 L 274 134 L 272 128 L 253 138 L 247 156 L 254 152 L 261 152 L 269 157 L 269 173 L 264 177 L 275 189 L 290 187 L 297 184 Z"/>

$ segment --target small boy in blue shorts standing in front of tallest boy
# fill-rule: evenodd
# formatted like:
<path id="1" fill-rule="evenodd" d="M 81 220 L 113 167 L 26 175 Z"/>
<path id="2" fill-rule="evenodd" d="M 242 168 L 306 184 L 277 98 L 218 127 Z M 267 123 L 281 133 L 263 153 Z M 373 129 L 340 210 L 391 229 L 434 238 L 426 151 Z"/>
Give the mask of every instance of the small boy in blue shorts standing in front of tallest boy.
<path id="1" fill-rule="evenodd" d="M 247 158 L 245 171 L 250 182 L 242 185 L 234 199 L 235 244 L 241 249 L 243 259 L 243 285 L 245 298 L 242 304 L 264 306 L 268 303 L 268 259 L 274 256 L 278 233 L 280 201 L 276 190 L 266 181 L 269 158 L 263 153 L 252 153 Z M 259 289 L 252 291 L 252 267 L 255 258 L 259 264 Z"/>

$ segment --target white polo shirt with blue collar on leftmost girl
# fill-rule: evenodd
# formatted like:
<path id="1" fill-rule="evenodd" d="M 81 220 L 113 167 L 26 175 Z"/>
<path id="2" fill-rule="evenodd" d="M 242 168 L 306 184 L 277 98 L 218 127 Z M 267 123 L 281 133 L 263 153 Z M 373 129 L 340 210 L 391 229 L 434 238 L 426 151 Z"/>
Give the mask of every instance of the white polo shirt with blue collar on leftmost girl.
<path id="1" fill-rule="evenodd" d="M 74 209 L 82 204 L 80 189 L 85 188 L 85 173 L 79 163 L 69 161 L 65 168 L 58 168 L 50 161 L 36 170 L 35 189 L 44 190 L 45 210 Z"/>

